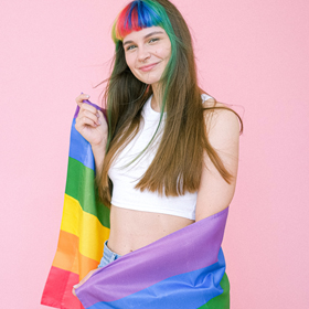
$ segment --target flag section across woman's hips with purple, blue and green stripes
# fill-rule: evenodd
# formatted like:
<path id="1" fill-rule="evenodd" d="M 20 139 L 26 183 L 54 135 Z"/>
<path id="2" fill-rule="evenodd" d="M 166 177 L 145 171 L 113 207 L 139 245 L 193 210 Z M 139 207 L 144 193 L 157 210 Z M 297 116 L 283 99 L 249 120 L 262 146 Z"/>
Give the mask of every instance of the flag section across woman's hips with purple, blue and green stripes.
<path id="1" fill-rule="evenodd" d="M 77 297 L 87 309 L 230 308 L 221 248 L 227 212 L 225 209 L 96 270 L 76 289 Z"/>

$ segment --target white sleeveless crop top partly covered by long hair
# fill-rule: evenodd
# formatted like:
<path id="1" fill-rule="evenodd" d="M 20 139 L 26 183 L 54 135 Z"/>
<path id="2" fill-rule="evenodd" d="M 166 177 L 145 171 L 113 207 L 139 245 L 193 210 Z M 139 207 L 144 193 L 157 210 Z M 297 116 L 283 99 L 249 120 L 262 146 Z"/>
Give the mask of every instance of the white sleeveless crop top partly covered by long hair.
<path id="1" fill-rule="evenodd" d="M 158 127 L 160 113 L 151 108 L 151 98 L 152 96 L 145 103 L 142 108 L 143 122 L 140 124 L 139 132 L 114 160 L 108 171 L 108 175 L 113 181 L 111 204 L 117 207 L 164 213 L 195 220 L 198 192 L 187 192 L 184 195 L 179 196 L 161 196 L 158 192 L 148 190 L 141 192 L 139 189 L 135 189 L 135 185 L 142 178 L 154 158 L 164 127 L 166 115 L 163 115 L 163 120 L 154 141 L 139 159 L 127 167 L 145 149 Z M 209 98 L 211 98 L 209 95 L 202 95 L 203 102 Z"/>

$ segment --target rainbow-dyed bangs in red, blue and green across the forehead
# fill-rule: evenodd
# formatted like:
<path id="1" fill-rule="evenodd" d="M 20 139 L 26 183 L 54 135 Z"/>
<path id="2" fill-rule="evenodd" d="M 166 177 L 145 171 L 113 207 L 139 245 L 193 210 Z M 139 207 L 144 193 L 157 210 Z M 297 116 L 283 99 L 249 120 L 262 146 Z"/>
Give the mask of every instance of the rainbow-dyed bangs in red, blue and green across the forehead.
<path id="1" fill-rule="evenodd" d="M 113 26 L 113 40 L 122 41 L 132 31 L 140 31 L 149 26 L 163 26 L 163 19 L 168 19 L 164 9 L 153 1 L 136 0 L 130 2 L 118 15 Z"/>

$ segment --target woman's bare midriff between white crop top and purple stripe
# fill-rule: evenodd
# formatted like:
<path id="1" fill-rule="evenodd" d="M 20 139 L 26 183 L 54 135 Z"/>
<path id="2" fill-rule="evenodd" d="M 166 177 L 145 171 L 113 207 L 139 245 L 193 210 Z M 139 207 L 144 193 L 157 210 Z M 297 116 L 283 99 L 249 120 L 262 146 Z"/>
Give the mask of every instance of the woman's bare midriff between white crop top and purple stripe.
<path id="1" fill-rule="evenodd" d="M 187 217 L 127 210 L 111 205 L 108 247 L 119 255 L 125 255 L 193 222 Z"/>

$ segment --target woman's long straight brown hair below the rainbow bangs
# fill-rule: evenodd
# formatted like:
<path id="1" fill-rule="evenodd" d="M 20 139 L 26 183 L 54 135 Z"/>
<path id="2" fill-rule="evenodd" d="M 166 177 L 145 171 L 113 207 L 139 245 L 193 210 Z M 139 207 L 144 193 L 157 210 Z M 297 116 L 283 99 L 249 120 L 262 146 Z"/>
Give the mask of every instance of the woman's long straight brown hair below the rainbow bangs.
<path id="1" fill-rule="evenodd" d="M 172 47 L 174 46 L 172 52 L 175 56 L 171 57 L 172 64 L 168 64 L 161 81 L 163 93 L 161 113 L 167 113 L 161 141 L 154 159 L 136 189 L 157 191 L 167 196 L 195 192 L 200 187 L 204 151 L 223 179 L 231 183 L 233 177 L 210 145 L 205 126 L 214 109 L 230 108 L 216 106 L 215 100 L 211 107 L 203 106 L 201 98 L 203 92 L 198 86 L 191 34 L 178 9 L 168 0 L 145 0 L 145 2 L 161 6 L 167 13 L 173 35 L 169 34 L 170 31 L 167 33 Z M 110 204 L 113 187 L 108 170 L 117 154 L 137 135 L 142 107 L 152 95 L 151 86 L 137 79 L 130 72 L 121 40 L 116 40 L 115 43 L 114 70 L 105 92 L 109 141 L 102 171 L 97 173 L 99 196 L 107 206 Z M 173 70 L 170 70 L 171 65 Z M 239 121 L 242 124 L 241 118 Z"/>

